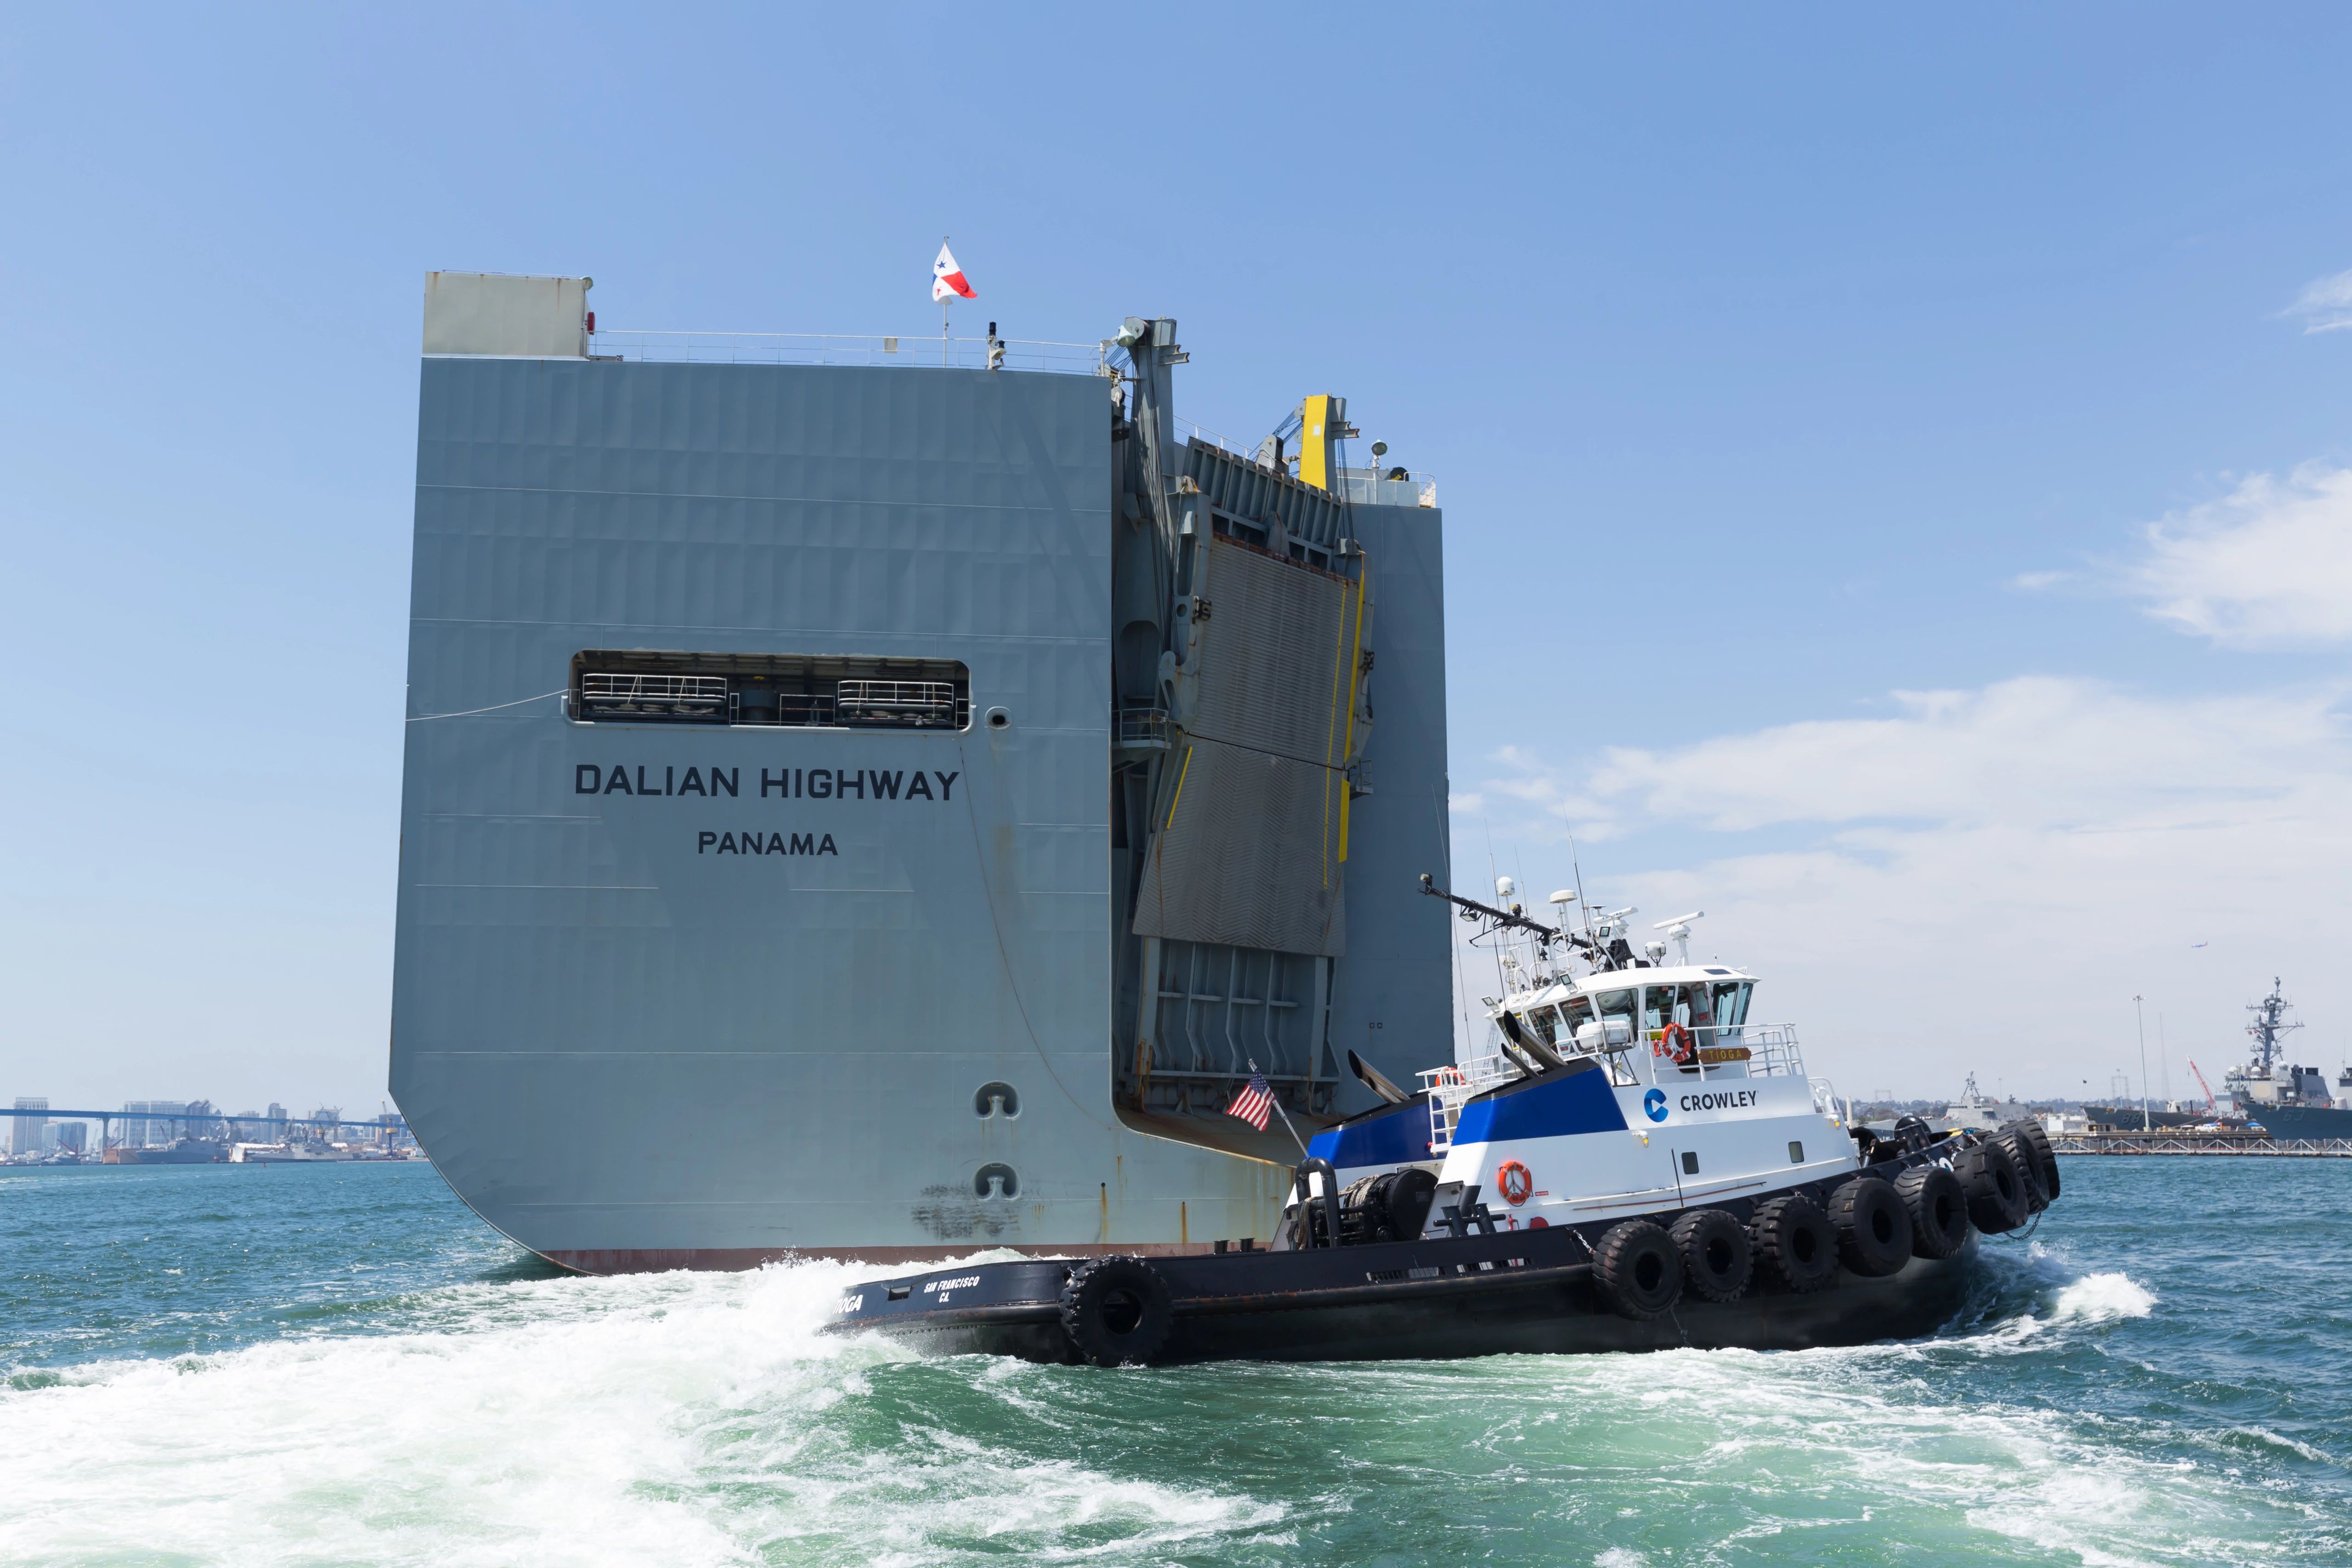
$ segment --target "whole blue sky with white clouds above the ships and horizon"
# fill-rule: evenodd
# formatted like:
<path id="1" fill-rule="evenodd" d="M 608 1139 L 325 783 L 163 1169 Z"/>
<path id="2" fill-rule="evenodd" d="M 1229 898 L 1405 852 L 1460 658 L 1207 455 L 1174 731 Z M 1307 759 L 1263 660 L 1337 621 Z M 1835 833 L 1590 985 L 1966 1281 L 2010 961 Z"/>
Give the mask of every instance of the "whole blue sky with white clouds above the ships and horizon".
<path id="1" fill-rule="evenodd" d="M 381 1100 L 428 268 L 920 336 L 941 233 L 1437 475 L 1463 884 L 1573 830 L 1856 1091 L 2352 1044 L 2338 9 L 0 31 L 0 1095 Z"/>

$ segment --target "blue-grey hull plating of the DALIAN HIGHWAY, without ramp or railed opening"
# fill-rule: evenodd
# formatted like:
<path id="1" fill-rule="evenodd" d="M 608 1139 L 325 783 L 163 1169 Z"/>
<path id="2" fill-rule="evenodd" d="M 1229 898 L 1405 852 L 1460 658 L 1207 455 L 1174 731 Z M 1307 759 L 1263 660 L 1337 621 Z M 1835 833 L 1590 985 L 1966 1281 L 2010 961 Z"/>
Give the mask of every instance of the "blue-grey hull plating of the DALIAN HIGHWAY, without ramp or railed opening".
<path id="1" fill-rule="evenodd" d="M 593 1272 L 1275 1229 L 1282 1126 L 1216 1117 L 1214 1074 L 1178 1100 L 1129 1081 L 1120 987 L 1155 950 L 1122 870 L 1143 818 L 1105 788 L 1129 527 L 1105 390 L 423 362 L 390 1088 L 489 1225 Z M 1444 910 L 1414 886 L 1446 835 L 1439 515 L 1348 527 L 1385 569 L 1385 686 L 1343 952 L 1301 959 L 1322 964 L 1305 1001 L 1251 983 L 1244 950 L 1230 983 L 1152 987 L 1235 1063 L 1312 1006 L 1284 1093 L 1322 1119 L 1369 1103 L 1329 1041 L 1390 1074 L 1451 1056 Z M 953 661 L 969 712 L 590 719 L 590 649 Z"/>

